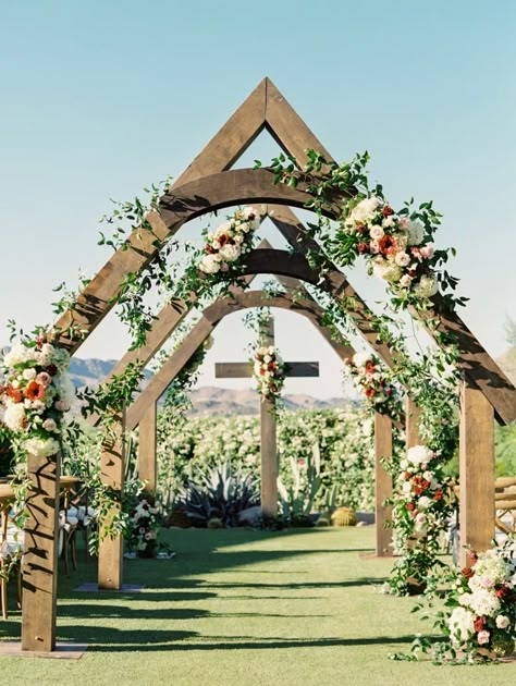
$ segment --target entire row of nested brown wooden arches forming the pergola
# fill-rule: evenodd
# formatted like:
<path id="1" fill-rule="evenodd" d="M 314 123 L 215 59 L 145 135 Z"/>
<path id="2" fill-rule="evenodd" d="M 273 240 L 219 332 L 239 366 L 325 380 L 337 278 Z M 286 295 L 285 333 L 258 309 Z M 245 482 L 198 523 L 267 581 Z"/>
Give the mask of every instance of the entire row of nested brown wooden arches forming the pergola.
<path id="1" fill-rule="evenodd" d="M 75 306 L 59 319 L 57 328 L 62 332 L 58 339 L 60 345 L 74 354 L 85 338 L 76 340 L 67 332 L 73 328 L 81 329 L 86 332 L 87 338 L 113 306 L 122 281 L 128 272 L 138 272 L 149 265 L 159 250 L 158 246 L 173 236 L 184 223 L 225 207 L 244 203 L 265 204 L 265 215 L 270 216 L 293 248 L 292 254 L 270 247 L 253 252 L 246 260 L 246 278 L 250 280 L 256 273 L 272 273 L 314 285 L 320 283 L 320 274 L 310 267 L 306 256 L 308 249 L 321 254 L 320 247 L 304 232 L 303 224 L 291 209 L 303 208 L 305 205 L 307 187 L 303 181 L 296 188 L 292 188 L 283 184 L 273 185 L 272 172 L 268 169 L 231 169 L 263 130 L 272 135 L 287 155 L 295 157 L 299 164 L 306 161 L 307 148 L 319 150 L 327 159 L 332 159 L 271 81 L 265 78 L 177 179 L 170 192 L 160 199 L 158 210 L 148 216 L 152 231 L 133 232 L 127 240 L 126 249 L 120 249 L 112 255 L 77 297 Z M 327 213 L 330 219 L 337 217 L 339 198 L 335 198 L 333 207 L 327 209 Z M 348 297 L 353 298 L 348 314 L 357 330 L 383 362 L 392 366 L 395 355 L 378 341 L 370 310 L 364 301 L 348 283 L 346 275 L 328 259 L 325 268 L 322 287 L 336 301 L 346 297 L 347 302 Z M 236 299 L 249 295 L 242 292 L 236 294 Z M 262 294 L 256 296 L 256 302 L 261 297 Z M 146 344 L 137 351 L 127 352 L 112 373 L 120 373 L 131 362 L 145 366 L 186 317 L 194 301 L 195 296 L 192 296 L 188 302 L 175 301 L 167 306 L 158 316 Z M 477 550 L 484 550 L 494 535 L 494 418 L 502 424 L 516 419 L 516 390 L 459 317 L 446 313 L 439 296 L 433 298 L 433 304 L 434 311 L 431 314 L 440 316 L 442 330 L 453 332 L 458 340 L 459 366 L 464 375 L 459 431 L 462 542 L 469 543 Z M 295 306 L 298 306 L 297 299 Z M 221 307 L 223 308 L 222 301 L 212 305 L 213 309 L 208 316 L 209 308 L 205 310 L 200 322 L 196 324 L 200 324 L 196 333 L 197 340 L 204 335 L 202 327 L 206 330 L 212 324 L 210 317 L 216 317 L 217 308 Z M 314 303 L 309 302 L 307 307 L 311 308 L 312 316 L 317 318 Z M 175 362 L 172 362 L 174 355 Z M 126 415 L 118 417 L 118 438 L 102 453 L 102 479 L 119 491 L 123 489 L 124 429 L 139 425 L 143 445 L 140 469 L 144 475 L 148 468 L 145 466 L 144 455 L 151 455 L 148 446 L 156 440 L 156 400 L 146 404 L 142 399 L 151 395 L 148 393 L 145 396 L 145 393 L 152 383 L 165 384 L 164 390 L 173 378 L 171 369 L 180 370 L 191 356 L 185 346 L 179 348 L 174 355 L 146 391 L 127 408 Z M 163 369 L 169 363 L 171 366 L 165 373 Z M 163 375 L 158 382 L 161 372 Z M 408 445 L 419 442 L 416 420 L 417 408 L 408 400 Z M 388 417 L 377 414 L 377 455 L 389 456 L 391 451 L 392 422 Z M 60 456 L 30 456 L 28 467 L 32 488 L 27 499 L 29 518 L 23 555 L 22 649 L 52 651 L 56 648 Z M 377 485 L 381 485 L 380 490 L 389 488 L 385 475 L 377 474 Z M 383 543 L 377 541 L 377 551 L 384 554 Z M 122 540 L 106 538 L 100 547 L 99 586 L 118 589 L 121 584 Z"/>

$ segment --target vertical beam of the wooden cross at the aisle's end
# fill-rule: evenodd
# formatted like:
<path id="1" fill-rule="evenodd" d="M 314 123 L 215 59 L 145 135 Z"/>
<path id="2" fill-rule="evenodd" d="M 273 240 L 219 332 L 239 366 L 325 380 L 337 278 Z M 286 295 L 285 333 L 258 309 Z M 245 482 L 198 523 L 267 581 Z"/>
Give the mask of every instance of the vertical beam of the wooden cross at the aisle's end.
<path id="1" fill-rule="evenodd" d="M 274 345 L 274 320 L 268 319 L 260 330 L 260 344 Z M 275 403 L 260 403 L 261 514 L 278 515 L 278 452 L 275 442 Z"/>

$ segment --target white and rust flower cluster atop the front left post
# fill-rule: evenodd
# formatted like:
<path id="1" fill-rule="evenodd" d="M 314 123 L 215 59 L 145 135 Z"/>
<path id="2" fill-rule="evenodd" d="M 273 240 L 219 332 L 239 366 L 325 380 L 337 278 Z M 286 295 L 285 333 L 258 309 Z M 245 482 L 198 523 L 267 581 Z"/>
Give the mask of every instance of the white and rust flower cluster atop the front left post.
<path id="1" fill-rule="evenodd" d="M 60 450 L 63 415 L 74 401 L 70 356 L 46 333 L 22 339 L 3 356 L 0 421 L 21 438 L 22 451 L 38 457 Z"/>

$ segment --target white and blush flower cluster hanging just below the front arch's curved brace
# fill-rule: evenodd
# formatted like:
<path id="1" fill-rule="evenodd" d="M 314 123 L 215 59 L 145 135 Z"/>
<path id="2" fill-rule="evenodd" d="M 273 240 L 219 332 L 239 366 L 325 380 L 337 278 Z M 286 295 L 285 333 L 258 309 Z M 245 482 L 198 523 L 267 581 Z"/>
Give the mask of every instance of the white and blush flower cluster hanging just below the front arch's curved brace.
<path id="1" fill-rule="evenodd" d="M 249 253 L 259 225 L 260 216 L 254 207 L 236 210 L 226 222 L 206 234 L 204 256 L 198 265 L 200 271 L 207 274 L 229 271 L 231 265 Z"/>

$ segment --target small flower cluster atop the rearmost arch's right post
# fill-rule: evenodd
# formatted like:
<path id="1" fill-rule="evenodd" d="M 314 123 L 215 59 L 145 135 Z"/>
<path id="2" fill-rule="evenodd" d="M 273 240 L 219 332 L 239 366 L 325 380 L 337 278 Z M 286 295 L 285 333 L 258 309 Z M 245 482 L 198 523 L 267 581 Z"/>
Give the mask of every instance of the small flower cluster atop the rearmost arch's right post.
<path id="1" fill-rule="evenodd" d="M 344 360 L 345 369 L 353 378 L 367 402 L 381 414 L 398 414 L 401 409 L 396 388 L 385 378 L 380 360 L 376 355 L 355 353 Z"/>

